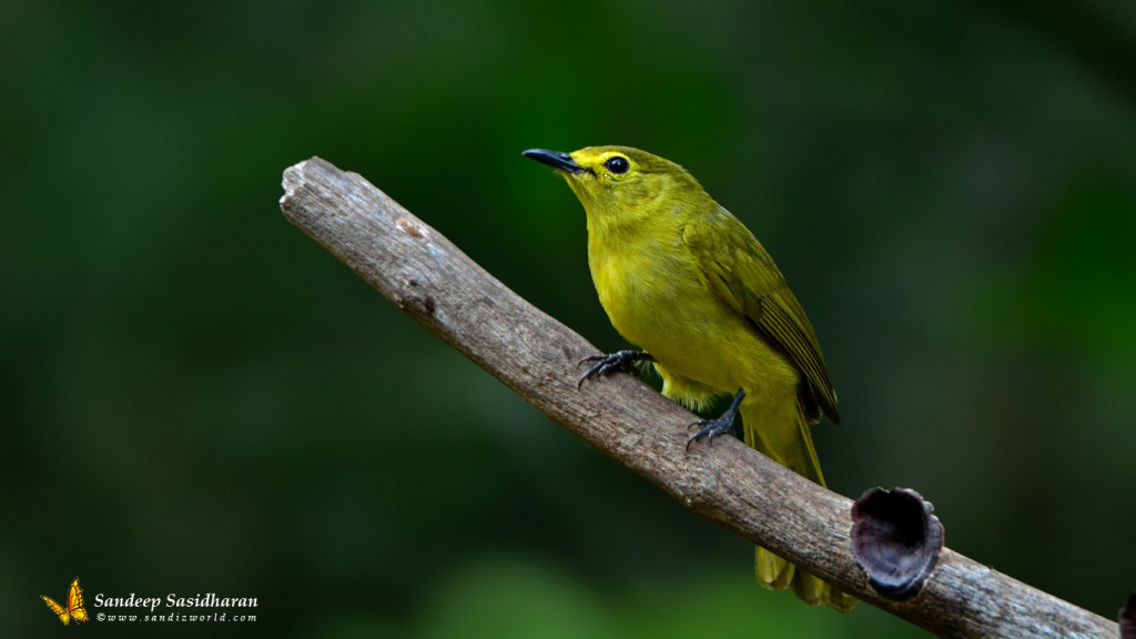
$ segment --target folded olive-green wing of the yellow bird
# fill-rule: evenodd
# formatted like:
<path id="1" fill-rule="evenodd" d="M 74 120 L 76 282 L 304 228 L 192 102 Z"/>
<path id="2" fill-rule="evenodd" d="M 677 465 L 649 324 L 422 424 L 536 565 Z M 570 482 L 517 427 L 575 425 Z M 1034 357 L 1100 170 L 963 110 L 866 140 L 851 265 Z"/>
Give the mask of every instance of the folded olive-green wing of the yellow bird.
<path id="1" fill-rule="evenodd" d="M 812 324 L 753 233 L 719 208 L 699 223 L 688 224 L 683 241 L 710 289 L 793 363 L 804 375 L 812 399 L 838 424 L 836 391 L 828 380 Z"/>

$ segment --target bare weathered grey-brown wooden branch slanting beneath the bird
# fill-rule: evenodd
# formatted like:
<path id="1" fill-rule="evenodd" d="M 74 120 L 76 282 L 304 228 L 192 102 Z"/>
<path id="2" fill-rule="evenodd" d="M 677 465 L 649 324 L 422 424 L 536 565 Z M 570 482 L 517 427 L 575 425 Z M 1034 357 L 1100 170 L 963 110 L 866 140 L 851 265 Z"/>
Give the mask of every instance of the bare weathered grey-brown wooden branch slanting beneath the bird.
<path id="1" fill-rule="evenodd" d="M 695 416 L 630 375 L 578 391 L 576 364 L 598 352 L 592 345 L 359 175 L 319 158 L 292 166 L 284 172 L 281 209 L 395 306 L 552 421 L 695 513 L 858 598 L 941 637 L 1119 636 L 1117 623 L 950 549 L 913 599 L 879 597 L 852 558 L 847 498 L 733 438 L 687 451 L 686 426 Z"/>

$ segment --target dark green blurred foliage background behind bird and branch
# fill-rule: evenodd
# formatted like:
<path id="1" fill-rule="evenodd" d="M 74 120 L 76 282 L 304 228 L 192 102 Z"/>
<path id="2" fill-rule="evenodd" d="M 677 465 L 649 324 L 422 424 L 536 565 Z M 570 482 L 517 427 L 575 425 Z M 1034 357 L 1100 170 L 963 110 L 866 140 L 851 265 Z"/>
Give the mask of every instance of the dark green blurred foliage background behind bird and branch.
<path id="1" fill-rule="evenodd" d="M 192 6 L 192 8 L 190 8 Z M 599 348 L 531 147 L 674 159 L 777 258 L 835 490 L 1109 617 L 1136 587 L 1136 13 L 1095 2 L 0 8 L 0 629 L 40 595 L 259 599 L 95 636 L 921 637 L 810 609 L 282 218 L 356 171 Z"/>

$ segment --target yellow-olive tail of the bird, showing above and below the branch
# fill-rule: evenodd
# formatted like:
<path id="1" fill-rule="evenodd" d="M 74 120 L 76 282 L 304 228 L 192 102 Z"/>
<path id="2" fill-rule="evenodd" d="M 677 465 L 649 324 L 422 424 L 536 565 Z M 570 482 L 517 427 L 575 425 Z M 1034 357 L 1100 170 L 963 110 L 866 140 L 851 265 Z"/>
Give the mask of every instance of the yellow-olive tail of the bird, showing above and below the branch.
<path id="1" fill-rule="evenodd" d="M 800 406 L 796 407 L 796 418 L 792 421 L 762 420 L 763 415 L 754 414 L 754 409 L 760 412 L 759 406 L 750 407 L 749 410 L 746 408 L 747 406 L 743 404 L 742 422 L 745 430 L 745 443 L 747 446 L 757 448 L 788 470 L 820 486 L 826 486 L 825 475 L 820 472 L 820 460 L 817 458 L 817 450 L 812 446 L 812 429 Z M 778 430 L 774 425 L 777 422 L 793 423 L 792 428 L 786 423 L 784 428 Z M 797 598 L 810 606 L 824 604 L 830 608 L 846 613 L 857 603 L 852 596 L 843 590 L 821 581 L 819 578 L 803 570 L 799 570 L 793 564 L 761 547 L 757 548 L 754 572 L 761 586 L 770 590 L 792 588 Z"/>

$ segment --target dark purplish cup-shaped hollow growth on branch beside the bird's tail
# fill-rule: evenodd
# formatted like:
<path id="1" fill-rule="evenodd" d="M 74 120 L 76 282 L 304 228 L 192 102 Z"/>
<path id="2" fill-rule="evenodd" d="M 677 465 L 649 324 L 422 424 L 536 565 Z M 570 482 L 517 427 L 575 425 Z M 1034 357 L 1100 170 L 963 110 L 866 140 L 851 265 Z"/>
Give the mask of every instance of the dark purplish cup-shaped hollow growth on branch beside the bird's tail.
<path id="1" fill-rule="evenodd" d="M 852 555 L 882 597 L 911 599 L 943 549 L 943 525 L 918 492 L 874 488 L 852 505 Z"/>

